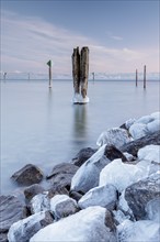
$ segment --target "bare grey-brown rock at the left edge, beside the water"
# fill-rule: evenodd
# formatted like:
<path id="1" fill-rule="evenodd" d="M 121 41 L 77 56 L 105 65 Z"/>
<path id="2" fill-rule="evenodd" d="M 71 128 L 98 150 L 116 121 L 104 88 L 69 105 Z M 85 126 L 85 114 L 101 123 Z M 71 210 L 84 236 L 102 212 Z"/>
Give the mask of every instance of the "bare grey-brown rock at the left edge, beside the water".
<path id="1" fill-rule="evenodd" d="M 0 196 L 0 232 L 5 233 L 10 227 L 26 217 L 26 207 L 14 196 Z"/>

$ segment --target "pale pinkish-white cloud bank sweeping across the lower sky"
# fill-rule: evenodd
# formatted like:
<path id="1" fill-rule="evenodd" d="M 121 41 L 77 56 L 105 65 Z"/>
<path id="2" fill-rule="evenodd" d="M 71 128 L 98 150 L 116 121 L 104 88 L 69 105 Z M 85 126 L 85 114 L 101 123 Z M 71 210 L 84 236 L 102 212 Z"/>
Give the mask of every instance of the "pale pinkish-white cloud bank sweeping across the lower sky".
<path id="1" fill-rule="evenodd" d="M 142 64 L 158 70 L 157 50 L 108 48 L 89 36 L 46 22 L 2 11 L 1 61 L 3 72 L 47 73 L 53 59 L 55 74 L 71 74 L 71 54 L 76 46 L 89 46 L 90 72 L 133 72 Z M 119 41 L 119 36 L 113 36 Z M 157 64 L 157 66 L 155 65 Z"/>

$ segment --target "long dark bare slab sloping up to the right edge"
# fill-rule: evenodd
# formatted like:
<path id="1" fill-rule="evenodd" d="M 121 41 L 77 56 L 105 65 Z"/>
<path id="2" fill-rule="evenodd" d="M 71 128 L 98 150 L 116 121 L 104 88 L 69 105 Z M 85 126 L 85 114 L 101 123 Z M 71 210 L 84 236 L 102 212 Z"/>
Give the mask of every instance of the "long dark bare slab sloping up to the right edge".
<path id="1" fill-rule="evenodd" d="M 139 148 L 141 148 L 146 145 L 149 145 L 149 144 L 160 145 L 160 131 L 157 131 L 151 134 L 147 134 L 144 138 L 132 141 L 132 142 L 123 145 L 122 147 L 119 147 L 119 150 L 122 152 L 127 152 L 134 156 L 137 156 Z"/>

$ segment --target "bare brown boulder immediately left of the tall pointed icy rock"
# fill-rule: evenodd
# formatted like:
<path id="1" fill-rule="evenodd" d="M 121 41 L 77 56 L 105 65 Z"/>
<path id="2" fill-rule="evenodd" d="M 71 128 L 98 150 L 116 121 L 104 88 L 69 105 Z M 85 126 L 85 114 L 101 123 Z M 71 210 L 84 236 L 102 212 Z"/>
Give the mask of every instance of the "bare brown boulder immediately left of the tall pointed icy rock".
<path id="1" fill-rule="evenodd" d="M 78 168 L 79 167 L 73 164 L 61 163 L 56 165 L 46 178 L 50 180 L 53 187 L 66 187 L 70 190 L 71 179 Z"/>

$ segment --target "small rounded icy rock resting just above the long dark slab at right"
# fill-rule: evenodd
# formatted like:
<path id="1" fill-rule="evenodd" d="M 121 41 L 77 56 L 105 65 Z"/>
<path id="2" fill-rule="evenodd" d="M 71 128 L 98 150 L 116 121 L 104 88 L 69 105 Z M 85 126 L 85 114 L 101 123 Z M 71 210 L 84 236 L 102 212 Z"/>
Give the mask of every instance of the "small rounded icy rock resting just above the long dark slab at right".
<path id="1" fill-rule="evenodd" d="M 134 140 L 140 139 L 148 133 L 147 125 L 144 123 L 134 123 L 129 128 L 129 133 L 134 138 Z"/>

